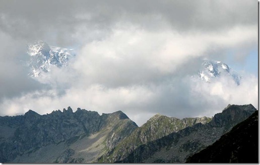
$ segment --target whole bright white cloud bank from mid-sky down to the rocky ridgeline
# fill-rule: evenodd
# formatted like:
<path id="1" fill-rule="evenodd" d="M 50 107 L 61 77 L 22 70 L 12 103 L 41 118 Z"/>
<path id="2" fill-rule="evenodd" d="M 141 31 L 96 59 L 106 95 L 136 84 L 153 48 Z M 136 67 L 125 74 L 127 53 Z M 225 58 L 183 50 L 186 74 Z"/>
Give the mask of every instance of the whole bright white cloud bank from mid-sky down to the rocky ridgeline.
<path id="1" fill-rule="evenodd" d="M 258 78 L 253 75 L 244 75 L 239 86 L 230 77 L 210 84 L 191 78 L 201 59 L 225 60 L 218 52 L 247 49 L 257 43 L 256 34 L 256 25 L 179 33 L 167 26 L 150 31 L 118 23 L 102 40 L 83 45 L 69 67 L 44 74 L 39 81 L 48 89 L 3 99 L 1 115 L 29 109 L 46 114 L 71 106 L 100 114 L 121 110 L 142 125 L 156 113 L 213 116 L 228 104 L 258 109 Z"/>

